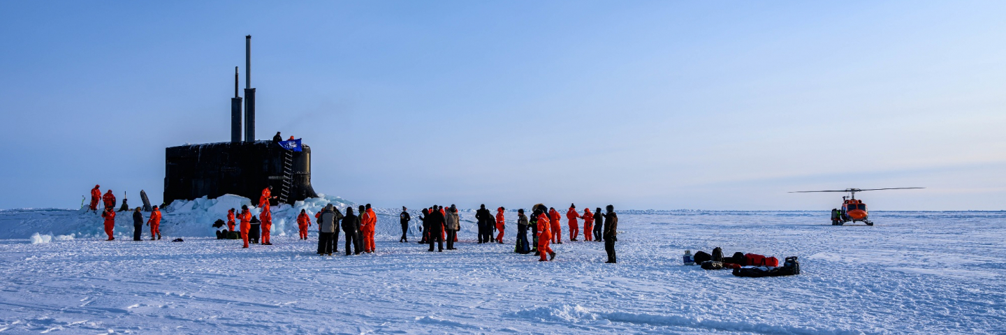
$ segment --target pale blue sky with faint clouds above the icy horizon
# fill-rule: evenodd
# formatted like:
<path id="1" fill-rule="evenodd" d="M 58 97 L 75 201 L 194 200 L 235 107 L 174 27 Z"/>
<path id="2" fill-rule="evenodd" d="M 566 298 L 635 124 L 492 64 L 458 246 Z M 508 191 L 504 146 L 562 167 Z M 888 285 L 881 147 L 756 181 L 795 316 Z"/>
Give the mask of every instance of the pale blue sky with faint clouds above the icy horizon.
<path id="1" fill-rule="evenodd" d="M 0 2 L 0 208 L 258 135 L 380 207 L 1006 209 L 1006 2 Z M 243 77 L 242 77 L 243 80 Z"/>

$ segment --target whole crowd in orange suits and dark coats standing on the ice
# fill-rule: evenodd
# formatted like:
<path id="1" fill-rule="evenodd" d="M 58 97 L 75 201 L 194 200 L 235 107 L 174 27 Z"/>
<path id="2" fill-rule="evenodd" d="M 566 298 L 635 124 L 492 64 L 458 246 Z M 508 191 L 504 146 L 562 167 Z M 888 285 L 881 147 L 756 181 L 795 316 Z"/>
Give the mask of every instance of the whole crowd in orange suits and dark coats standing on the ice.
<path id="1" fill-rule="evenodd" d="M 262 196 L 259 197 L 258 216 L 252 214 L 247 205 L 242 205 L 240 212 L 230 208 L 227 211 L 227 228 L 235 231 L 239 228 L 240 238 L 243 241 L 242 247 L 248 247 L 250 230 L 253 223 L 258 223 L 261 227 L 259 240 L 264 245 L 272 245 L 271 234 L 273 228 L 273 214 L 270 200 L 276 198 L 272 195 L 272 186 L 263 189 Z M 96 185 L 92 190 L 91 209 L 97 211 L 97 198 L 100 196 L 100 186 Z M 115 228 L 115 195 L 112 190 L 104 195 L 105 211 L 102 217 L 105 218 L 105 232 L 109 235 L 108 240 L 115 239 L 113 229 Z M 111 201 L 111 202 L 110 202 Z M 111 203 L 111 204 L 110 204 Z M 377 224 L 377 215 L 370 204 L 358 207 L 359 215 L 353 212 L 352 207 L 347 207 L 345 213 L 328 204 L 325 208 L 315 213 L 313 220 L 318 224 L 318 255 L 332 256 L 338 248 L 340 230 L 345 233 L 345 253 L 349 255 L 359 255 L 361 253 L 374 253 L 374 232 Z M 506 208 L 496 208 L 496 214 L 491 213 L 483 204 L 475 212 L 478 224 L 478 243 L 503 243 L 505 232 Z M 457 249 L 455 242 L 458 241 L 458 230 L 461 229 L 461 218 L 458 208 L 455 205 L 445 208 L 441 205 L 434 205 L 423 208 L 420 219 L 422 225 L 422 244 L 430 244 L 428 250 L 444 252 L 445 241 L 447 249 Z M 608 253 L 608 262 L 616 263 L 615 241 L 618 240 L 618 215 L 615 207 L 608 205 L 607 212 L 602 213 L 601 207 L 591 212 L 590 208 L 584 208 L 580 213 L 576 210 L 575 204 L 569 204 L 569 209 L 565 212 L 566 223 L 569 228 L 569 240 L 576 241 L 579 237 L 579 219 L 583 220 L 583 240 L 584 241 L 605 241 L 605 250 Z M 531 215 L 524 213 L 524 209 L 517 210 L 517 234 L 514 243 L 514 253 L 534 254 L 539 257 L 540 262 L 547 262 L 555 259 L 555 250 L 551 244 L 562 243 L 562 215 L 554 207 L 545 207 L 543 204 L 536 204 L 532 207 Z M 143 225 L 143 213 L 137 207 L 133 213 L 135 224 L 134 239 L 141 240 L 141 230 Z M 399 242 L 407 242 L 408 222 L 411 220 L 407 208 L 401 207 L 399 214 L 401 223 L 401 237 Z M 147 220 L 150 226 L 151 239 L 160 239 L 161 212 L 154 206 Z M 597 223 L 597 224 L 595 224 Z M 237 226 L 239 224 L 239 226 Z M 308 239 L 308 227 L 312 225 L 312 219 L 307 210 L 301 209 L 297 216 L 297 224 L 300 239 Z M 528 236 L 530 230 L 531 235 Z M 495 235 L 494 235 L 495 234 Z"/>

